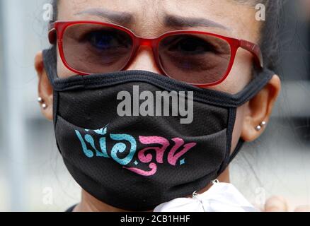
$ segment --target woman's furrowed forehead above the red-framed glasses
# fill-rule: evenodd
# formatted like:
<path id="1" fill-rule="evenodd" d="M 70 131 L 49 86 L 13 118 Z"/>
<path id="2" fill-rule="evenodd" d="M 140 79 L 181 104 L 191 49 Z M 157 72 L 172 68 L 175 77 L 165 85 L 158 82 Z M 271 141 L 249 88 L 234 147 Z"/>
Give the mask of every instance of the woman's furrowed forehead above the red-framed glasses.
<path id="1" fill-rule="evenodd" d="M 109 21 L 102 13 L 120 20 Z M 143 36 L 176 30 L 167 28 L 165 23 L 175 17 L 178 22 L 205 19 L 207 23 L 191 29 L 258 42 L 261 22 L 256 21 L 255 14 L 251 4 L 239 4 L 236 0 L 60 0 L 58 20 L 115 22 Z"/>

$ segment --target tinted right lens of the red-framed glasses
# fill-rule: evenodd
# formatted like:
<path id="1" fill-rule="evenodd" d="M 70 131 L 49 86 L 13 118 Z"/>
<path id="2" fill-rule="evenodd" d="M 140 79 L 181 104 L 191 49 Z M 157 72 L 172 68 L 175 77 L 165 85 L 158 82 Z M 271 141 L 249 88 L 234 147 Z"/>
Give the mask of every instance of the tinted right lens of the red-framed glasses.
<path id="1" fill-rule="evenodd" d="M 163 71 L 171 78 L 186 83 L 220 81 L 229 68 L 230 59 L 229 43 L 212 35 L 170 35 L 159 44 Z"/>

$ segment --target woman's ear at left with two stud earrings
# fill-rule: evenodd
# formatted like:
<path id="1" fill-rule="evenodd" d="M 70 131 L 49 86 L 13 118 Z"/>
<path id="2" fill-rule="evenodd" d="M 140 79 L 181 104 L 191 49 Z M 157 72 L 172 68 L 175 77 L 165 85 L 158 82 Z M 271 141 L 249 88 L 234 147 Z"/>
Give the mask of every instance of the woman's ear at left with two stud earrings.
<path id="1" fill-rule="evenodd" d="M 43 64 L 42 52 L 38 52 L 35 55 L 35 70 L 38 73 L 38 96 L 42 98 L 40 103 L 41 112 L 45 118 L 52 120 L 52 109 L 53 109 L 53 89 L 47 78 L 47 73 Z M 42 104 L 46 105 L 46 108 L 42 107 Z"/>

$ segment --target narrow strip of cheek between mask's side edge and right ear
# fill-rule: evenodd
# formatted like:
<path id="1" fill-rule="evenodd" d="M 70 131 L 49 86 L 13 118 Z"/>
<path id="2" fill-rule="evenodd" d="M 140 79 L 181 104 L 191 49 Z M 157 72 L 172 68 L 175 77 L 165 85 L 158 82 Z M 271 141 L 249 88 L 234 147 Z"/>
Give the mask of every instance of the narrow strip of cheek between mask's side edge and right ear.
<path id="1" fill-rule="evenodd" d="M 239 141 L 239 138 L 241 136 L 241 131 L 243 128 L 243 122 L 245 119 L 245 112 L 246 112 L 246 106 L 248 105 L 248 102 L 245 105 L 242 105 L 241 107 L 237 108 L 237 114 L 236 114 L 236 122 L 234 125 L 234 131 L 232 134 L 231 139 L 231 153 L 235 150 L 236 145 Z"/>

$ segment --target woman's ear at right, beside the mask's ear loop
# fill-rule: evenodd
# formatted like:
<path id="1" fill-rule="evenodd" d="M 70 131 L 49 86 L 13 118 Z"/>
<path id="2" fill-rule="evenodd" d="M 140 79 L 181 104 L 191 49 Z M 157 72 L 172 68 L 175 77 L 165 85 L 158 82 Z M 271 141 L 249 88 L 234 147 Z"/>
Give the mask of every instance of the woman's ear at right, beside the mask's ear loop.
<path id="1" fill-rule="evenodd" d="M 265 88 L 260 90 L 260 93 L 248 102 L 241 131 L 241 138 L 244 141 L 254 141 L 263 133 L 265 126 L 262 126 L 259 131 L 256 130 L 256 126 L 260 125 L 262 121 L 268 123 L 280 90 L 280 78 L 274 75 L 269 83 L 265 85 Z"/>

